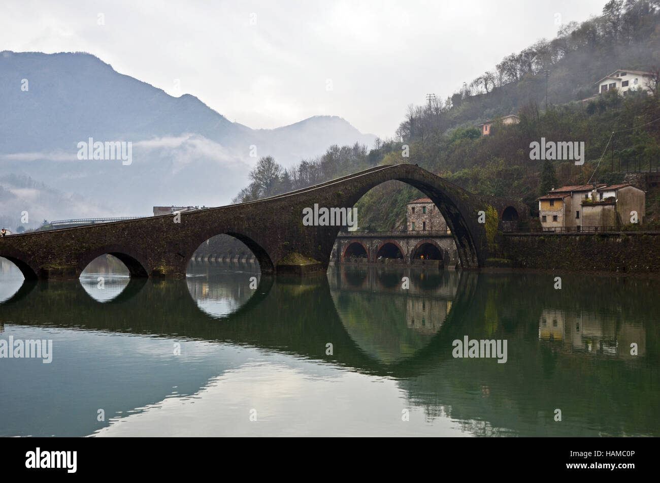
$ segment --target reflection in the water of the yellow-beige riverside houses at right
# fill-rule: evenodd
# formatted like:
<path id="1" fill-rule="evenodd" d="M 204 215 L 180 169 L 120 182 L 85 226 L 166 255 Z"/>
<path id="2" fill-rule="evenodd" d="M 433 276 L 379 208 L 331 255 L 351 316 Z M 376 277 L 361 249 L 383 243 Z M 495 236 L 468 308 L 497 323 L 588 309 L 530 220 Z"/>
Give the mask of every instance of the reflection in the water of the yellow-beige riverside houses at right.
<path id="1" fill-rule="evenodd" d="M 646 348 L 646 333 L 641 324 L 622 321 L 617 327 L 613 317 L 585 311 L 544 309 L 539 319 L 539 338 L 562 340 L 564 347 L 570 346 L 574 352 L 606 356 L 635 357 L 630 355 L 633 342 L 638 346 L 638 356 L 643 356 Z"/>

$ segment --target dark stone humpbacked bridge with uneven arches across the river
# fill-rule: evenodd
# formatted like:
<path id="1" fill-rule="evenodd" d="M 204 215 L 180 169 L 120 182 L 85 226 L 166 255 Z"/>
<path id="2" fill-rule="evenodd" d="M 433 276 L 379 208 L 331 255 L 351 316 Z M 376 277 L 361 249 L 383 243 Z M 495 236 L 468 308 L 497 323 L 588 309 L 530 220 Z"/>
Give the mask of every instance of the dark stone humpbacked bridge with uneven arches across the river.
<path id="1" fill-rule="evenodd" d="M 262 273 L 325 270 L 341 226 L 304 226 L 303 209 L 315 204 L 353 207 L 367 191 L 393 179 L 416 187 L 440 209 L 463 269 L 484 267 L 493 256 L 485 228 L 489 220 L 478 221 L 480 210 L 492 216 L 492 209 L 502 214 L 512 206 L 523 213 L 513 201 L 473 195 L 416 165 L 396 164 L 258 201 L 183 212 L 180 222 L 174 215 L 150 216 L 12 235 L 0 240 L 0 257 L 15 263 L 27 279 L 78 278 L 90 261 L 105 253 L 119 258 L 131 276 L 178 277 L 185 276 L 188 261 L 203 241 L 228 234 L 253 251 Z M 497 222 L 501 229 L 500 215 Z M 298 255 L 312 262 L 300 265 Z"/>

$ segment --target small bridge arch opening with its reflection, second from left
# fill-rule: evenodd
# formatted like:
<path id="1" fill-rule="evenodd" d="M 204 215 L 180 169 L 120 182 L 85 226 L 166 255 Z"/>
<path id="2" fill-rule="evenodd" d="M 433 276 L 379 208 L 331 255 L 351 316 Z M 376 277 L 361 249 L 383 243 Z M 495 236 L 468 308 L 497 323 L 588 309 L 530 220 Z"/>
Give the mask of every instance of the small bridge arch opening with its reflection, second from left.
<path id="1" fill-rule="evenodd" d="M 124 259 L 126 256 L 122 255 Z M 98 302 L 110 302 L 117 298 L 130 281 L 131 271 L 127 265 L 110 253 L 104 253 L 90 261 L 80 276 L 82 288 Z"/>

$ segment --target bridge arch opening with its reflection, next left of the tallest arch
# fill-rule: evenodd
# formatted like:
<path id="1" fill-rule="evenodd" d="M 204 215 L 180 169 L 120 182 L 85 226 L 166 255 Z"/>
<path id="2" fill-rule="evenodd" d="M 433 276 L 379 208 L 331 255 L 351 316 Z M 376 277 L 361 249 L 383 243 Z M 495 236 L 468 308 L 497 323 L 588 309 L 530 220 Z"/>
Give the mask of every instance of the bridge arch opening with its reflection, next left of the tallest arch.
<path id="1" fill-rule="evenodd" d="M 261 247 L 238 236 L 220 234 L 203 241 L 185 273 L 190 296 L 202 311 L 217 319 L 244 306 L 259 290 L 261 264 L 272 266 Z"/>

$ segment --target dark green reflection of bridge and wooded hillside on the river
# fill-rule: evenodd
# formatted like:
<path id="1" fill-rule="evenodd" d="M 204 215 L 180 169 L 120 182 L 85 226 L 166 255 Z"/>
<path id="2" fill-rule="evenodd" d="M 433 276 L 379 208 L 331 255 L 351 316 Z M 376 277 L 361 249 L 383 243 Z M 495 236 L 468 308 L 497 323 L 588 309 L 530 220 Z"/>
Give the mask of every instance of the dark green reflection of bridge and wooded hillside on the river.
<path id="1" fill-rule="evenodd" d="M 391 273 L 399 287 L 402 272 Z M 238 274 L 232 283 L 247 287 L 248 275 Z M 348 279 L 350 276 L 348 273 Z M 508 428 L 517 435 L 538 434 L 539 424 L 547 424 L 543 432 L 548 435 L 660 434 L 659 425 L 653 424 L 657 423 L 653 408 L 660 404 L 659 395 L 648 390 L 649 381 L 660 380 L 660 329 L 655 324 L 660 301 L 649 298 L 657 285 L 628 280 L 624 287 L 605 279 L 584 286 L 581 277 L 566 276 L 564 288 L 574 290 L 558 291 L 552 288 L 550 276 L 463 273 L 444 280 L 442 276 L 428 278 L 428 274 L 422 278 L 420 273 L 411 274 L 411 292 L 397 294 L 403 290 L 390 285 L 389 274 L 378 276 L 367 273 L 366 281 L 358 286 L 350 284 L 341 271 L 306 280 L 262 277 L 248 300 L 224 314 L 201 310 L 199 300 L 191 296 L 196 292 L 183 280 L 131 281 L 119 297 L 106 304 L 90 298 L 78 282 L 25 282 L 3 304 L 1 317 L 5 322 L 22 321 L 37 327 L 228 342 L 336 365 L 340 370 L 391 377 L 406 391 L 410 403 L 425 408 L 429 417 L 447 414 L 461 421 L 486 421 L 492 428 Z M 192 283 L 201 286 L 205 282 L 200 278 Z M 222 290 L 216 295 L 222 296 Z M 534 298 L 529 297 L 530 292 Z M 427 309 L 431 303 L 451 304 L 441 329 L 430 333 L 411 330 L 407 315 L 416 309 L 411 311 L 409 300 L 426 300 Z M 576 307 L 589 314 L 582 315 L 579 322 L 580 344 L 567 335 L 576 320 L 562 315 L 576 313 Z M 442 313 L 442 309 L 433 311 Z M 554 341 L 550 341 L 553 329 L 543 333 L 539 329 L 542 317 L 553 328 L 556 314 L 564 317 L 564 323 L 557 319 Z M 451 341 L 465 334 L 508 339 L 509 362 L 453 359 Z M 562 347 L 569 350 L 554 350 L 560 336 L 566 340 Z M 629 357 L 620 351 L 595 362 L 583 349 L 586 338 L 605 341 L 612 337 L 619 347 L 638 339 L 643 348 L 640 356 Z M 335 347 L 332 356 L 325 353 L 327 342 Z M 603 354 L 605 347 L 604 343 Z M 108 348 L 108 354 L 97 357 L 110 357 L 114 350 Z M 165 368 L 160 371 L 152 377 L 167 377 Z M 617 381 L 626 383 L 614 383 L 612 373 Z M 185 371 L 183 375 L 193 389 L 207 383 Z M 121 391 L 121 383 L 117 382 L 117 391 Z M 94 377 L 80 384 L 84 385 L 78 388 L 82 393 L 99 391 Z M 158 401 L 159 396 L 152 394 L 156 389 L 146 385 L 137 392 L 133 389 L 137 401 L 129 409 L 144 400 Z M 61 414 L 73 418 L 89 410 L 84 398 L 69 399 L 72 407 Z M 35 412 L 47 412 L 50 403 L 29 404 L 35 406 Z M 564 414 L 571 414 L 571 424 L 552 424 L 556 404 L 561 404 Z M 594 420 L 594 408 L 609 416 Z M 589 424 L 580 426 L 576 420 Z"/>

